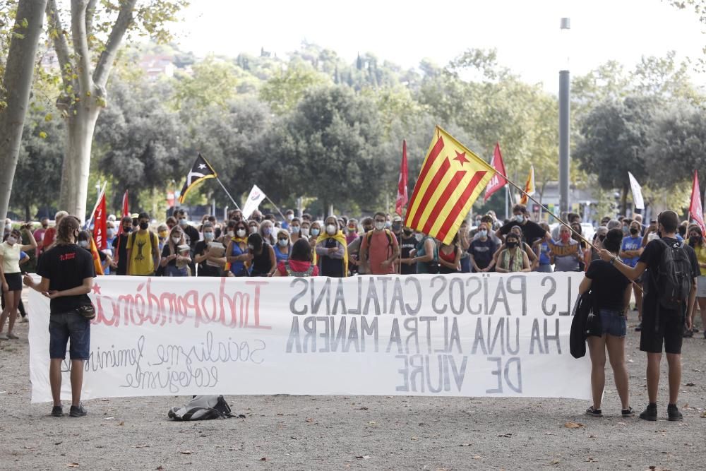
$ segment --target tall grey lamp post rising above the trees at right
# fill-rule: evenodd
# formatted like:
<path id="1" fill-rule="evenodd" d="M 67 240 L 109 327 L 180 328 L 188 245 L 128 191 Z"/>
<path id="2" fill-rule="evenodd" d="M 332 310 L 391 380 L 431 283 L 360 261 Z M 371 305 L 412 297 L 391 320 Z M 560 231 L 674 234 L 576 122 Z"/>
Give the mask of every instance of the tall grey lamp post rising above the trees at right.
<path id="1" fill-rule="evenodd" d="M 569 18 L 561 18 L 562 47 L 568 47 L 567 35 L 570 30 Z M 570 117 L 570 75 L 568 50 L 564 54 L 559 71 L 559 210 L 566 214 L 569 210 L 569 117 Z"/>

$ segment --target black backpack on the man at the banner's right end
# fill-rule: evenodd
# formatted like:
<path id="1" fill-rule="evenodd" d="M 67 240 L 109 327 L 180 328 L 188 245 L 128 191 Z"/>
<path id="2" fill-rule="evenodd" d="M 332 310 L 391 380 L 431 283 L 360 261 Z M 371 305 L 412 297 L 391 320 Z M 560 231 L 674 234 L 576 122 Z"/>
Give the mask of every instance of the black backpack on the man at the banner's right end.
<path id="1" fill-rule="evenodd" d="M 664 245 L 659 266 L 652 272 L 657 301 L 664 309 L 681 312 L 686 306 L 691 290 L 691 261 L 683 242 L 670 246 L 662 239 L 655 240 Z"/>

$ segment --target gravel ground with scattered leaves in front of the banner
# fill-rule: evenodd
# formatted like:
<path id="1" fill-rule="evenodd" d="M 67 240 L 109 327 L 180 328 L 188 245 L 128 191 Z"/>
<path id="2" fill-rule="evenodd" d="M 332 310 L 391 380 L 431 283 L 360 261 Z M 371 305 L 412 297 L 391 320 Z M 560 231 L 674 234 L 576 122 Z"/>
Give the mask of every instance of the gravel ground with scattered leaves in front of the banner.
<path id="1" fill-rule="evenodd" d="M 665 419 L 665 361 L 657 422 L 620 417 L 608 372 L 602 419 L 582 415 L 590 404 L 577 400 L 276 395 L 227 397 L 246 419 L 179 423 L 167 410 L 185 397 L 90 400 L 80 419 L 30 404 L 27 325 L 18 323 L 20 340 L 0 342 L 3 470 L 706 469 L 702 333 L 684 342 L 681 423 Z M 630 329 L 639 412 L 647 388 L 638 340 Z"/>

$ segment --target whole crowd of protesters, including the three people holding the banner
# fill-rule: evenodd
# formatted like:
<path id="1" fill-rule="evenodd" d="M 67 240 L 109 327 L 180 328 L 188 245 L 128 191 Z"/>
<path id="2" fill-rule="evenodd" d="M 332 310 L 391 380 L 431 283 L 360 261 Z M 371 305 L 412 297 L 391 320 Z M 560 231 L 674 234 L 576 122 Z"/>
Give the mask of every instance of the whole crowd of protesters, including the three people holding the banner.
<path id="1" fill-rule="evenodd" d="M 695 332 L 691 319 L 697 308 L 702 324 L 706 325 L 706 243 L 698 225 L 679 224 L 673 211 L 660 213 L 659 220 L 650 221 L 649 225 L 642 223 L 640 215 L 635 215 L 634 219 L 604 217 L 592 240 L 587 241 L 582 237 L 579 215 L 568 213 L 566 225 L 550 230 L 546 222 L 534 222 L 525 205 L 517 204 L 513 207 L 513 217 L 504 222 L 497 220 L 493 211 L 469 218 L 474 227 L 463 222 L 449 243 L 405 227 L 402 217 L 382 212 L 361 220 L 333 215 L 316 220 L 306 213 L 295 217 L 292 210 L 287 210 L 284 216 L 283 220 L 277 220 L 273 214 L 263 215 L 256 210 L 246 218 L 241 210 L 232 210 L 225 221 L 205 215 L 198 223 L 191 222 L 184 209 L 175 210 L 172 216 L 159 223 L 151 220 L 148 213 L 126 215 L 119 220 L 109 216 L 105 234 L 107 248 L 100 251 L 100 264 L 106 275 L 168 277 L 321 275 L 342 278 L 393 273 L 585 272 L 580 291 L 590 291 L 600 300 L 595 311 L 602 324 L 602 331 L 588 339 L 594 404 L 587 414 L 602 415 L 607 349 L 623 402 L 622 414 L 624 417 L 633 415 L 628 403 L 625 336 L 630 299 L 634 296 L 641 321 L 636 328 L 642 330 L 640 349 L 648 352 L 650 405 L 640 417 L 656 417 L 654 404 L 664 343 L 670 367 L 669 418 L 681 418 L 676 410 L 678 381 L 673 371 L 680 368 L 681 378 L 678 364 L 681 339 Z M 18 311 L 26 319 L 20 297 L 23 287 L 20 265 L 27 261 L 28 252 L 35 251 L 37 274 L 42 282 L 25 277 L 24 283 L 52 297 L 52 371 L 59 368 L 59 364 L 54 365 L 54 359 L 63 359 L 66 354 L 68 338 L 72 340 L 72 360 L 82 360 L 88 355 L 90 335 L 84 335 L 88 330 L 88 323 L 83 322 L 85 318 L 56 316 L 55 322 L 54 314 L 64 315 L 71 309 L 90 304 L 87 294 L 95 275 L 90 255 L 89 230 L 92 227 L 81 230 L 78 219 L 64 211 L 56 213 L 55 222 L 50 226 L 49 220 L 43 218 L 40 227 L 32 228 L 26 223 L 14 227 L 7 220 L 4 242 L 0 244 L 3 292 L 0 340 L 18 338 L 13 332 Z M 690 302 L 681 317 L 667 316 L 664 312 L 659 316 L 659 309 L 658 314 L 654 310 L 659 304 L 654 293 L 660 283 L 660 257 L 664 247 L 677 245 L 688 251 L 691 263 Z M 67 255 L 69 252 L 74 255 Z M 61 279 L 61 273 L 66 270 L 75 273 Z M 643 290 L 647 293 L 645 302 L 642 302 Z M 63 297 L 72 301 L 62 301 Z M 8 330 L 4 333 L 7 319 Z M 50 378 L 53 378 L 54 390 L 56 381 L 60 385 L 60 373 L 54 371 Z M 79 393 L 71 415 L 85 413 L 78 403 L 80 380 L 73 378 L 72 369 L 72 383 L 76 381 Z M 59 409 L 53 411 L 55 415 L 61 415 L 60 405 L 57 392 L 54 406 Z"/>

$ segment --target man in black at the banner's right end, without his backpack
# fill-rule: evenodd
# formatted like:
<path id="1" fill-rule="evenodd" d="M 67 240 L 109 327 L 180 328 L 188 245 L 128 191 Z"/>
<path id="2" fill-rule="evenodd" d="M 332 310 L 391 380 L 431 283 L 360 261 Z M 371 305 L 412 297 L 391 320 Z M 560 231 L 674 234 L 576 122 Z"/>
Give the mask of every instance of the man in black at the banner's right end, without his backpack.
<path id="1" fill-rule="evenodd" d="M 647 352 L 647 395 L 650 404 L 647 405 L 641 419 L 657 420 L 657 388 L 659 386 L 659 363 L 662 361 L 662 345 L 669 364 L 669 405 L 667 415 L 669 420 L 681 420 L 682 415 L 676 407 L 679 388 L 681 386 L 681 343 L 683 327 L 691 328 L 691 316 L 696 297 L 696 277 L 700 274 L 698 260 L 694 250 L 687 244 L 676 239 L 676 229 L 679 217 L 674 211 L 663 211 L 657 217 L 661 240 L 653 240 L 642 252 L 635 268 L 625 265 L 609 251 L 601 250 L 600 256 L 609 261 L 630 280 L 637 279 L 647 270 L 645 282 L 645 301 L 642 303 L 642 331 L 640 332 L 640 350 Z M 684 309 L 671 311 L 659 305 L 657 272 L 662 259 L 662 253 L 669 247 L 682 246 L 690 261 L 692 286 L 688 297 L 686 312 Z"/>

